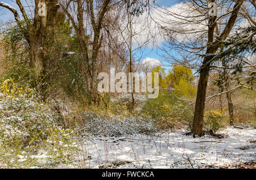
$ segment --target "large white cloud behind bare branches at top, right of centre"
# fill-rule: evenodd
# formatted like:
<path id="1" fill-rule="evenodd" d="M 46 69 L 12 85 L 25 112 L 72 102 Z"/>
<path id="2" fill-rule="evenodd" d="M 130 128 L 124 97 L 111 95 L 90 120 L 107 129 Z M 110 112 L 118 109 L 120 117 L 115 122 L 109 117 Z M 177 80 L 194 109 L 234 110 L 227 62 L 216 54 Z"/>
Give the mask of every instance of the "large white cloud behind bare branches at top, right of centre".
<path id="1" fill-rule="evenodd" d="M 163 27 L 170 30 L 169 32 L 172 33 L 169 36 L 177 41 L 195 40 L 207 32 L 207 21 L 204 19 L 205 15 L 199 14 L 188 3 L 151 8 L 150 16 L 145 12 L 138 17 L 133 17 L 132 29 L 133 33 L 136 34 L 133 35 L 133 48 L 138 48 L 141 45 L 154 48 L 154 46 L 160 46 L 162 42 L 170 40 L 166 31 L 163 31 Z M 128 40 L 127 20 L 122 19 L 121 24 L 123 37 Z M 119 40 L 123 38 L 122 36 L 119 37 L 121 37 Z"/>

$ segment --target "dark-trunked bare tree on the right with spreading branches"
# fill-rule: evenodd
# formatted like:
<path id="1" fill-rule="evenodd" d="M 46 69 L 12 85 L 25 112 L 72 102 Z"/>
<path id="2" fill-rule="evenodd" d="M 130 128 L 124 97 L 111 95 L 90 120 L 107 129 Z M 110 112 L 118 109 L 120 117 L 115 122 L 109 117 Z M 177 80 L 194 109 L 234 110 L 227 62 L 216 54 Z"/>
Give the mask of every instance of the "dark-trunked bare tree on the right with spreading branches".
<path id="1" fill-rule="evenodd" d="M 217 4 L 216 14 L 209 14 L 214 3 Z M 176 5 L 176 11 L 158 7 L 162 23 L 159 25 L 166 31 L 169 37 L 169 45 L 172 49 L 179 50 L 180 54 L 175 57 L 169 54 L 169 58 L 177 63 L 197 69 L 200 74 L 197 87 L 195 115 L 192 132 L 195 135 L 203 135 L 203 117 L 205 99 L 210 67 L 214 62 L 220 61 L 220 57 L 232 49 L 221 52 L 223 42 L 229 38 L 236 25 L 242 21 L 254 24 L 251 8 L 255 8 L 254 1 L 184 1 Z M 209 7 L 208 7 L 209 6 Z M 181 11 L 181 12 L 180 12 Z M 164 17 L 164 15 L 168 15 Z M 252 33 L 243 40 L 252 38 Z M 168 51 L 166 51 L 168 53 Z M 181 54 L 183 54 L 181 56 Z M 181 57 L 181 58 L 180 58 Z M 182 61 L 182 59 L 184 61 Z"/>

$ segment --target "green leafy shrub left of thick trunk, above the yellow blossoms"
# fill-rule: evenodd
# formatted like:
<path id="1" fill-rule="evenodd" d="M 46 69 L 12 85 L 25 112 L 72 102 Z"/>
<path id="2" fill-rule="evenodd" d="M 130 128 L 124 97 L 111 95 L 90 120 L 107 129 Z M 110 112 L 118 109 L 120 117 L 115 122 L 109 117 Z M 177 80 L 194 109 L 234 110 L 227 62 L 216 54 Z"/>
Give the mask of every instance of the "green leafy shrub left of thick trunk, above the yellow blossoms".
<path id="1" fill-rule="evenodd" d="M 39 77 L 34 70 L 29 67 L 30 55 L 26 38 L 27 27 L 26 22 L 20 22 L 20 25 L 15 25 L 5 33 L 2 33 L 3 39 L 0 44 L 4 48 L 4 58 L 0 62 L 3 72 L 0 77 L 4 79 L 13 79 L 20 84 L 29 83 L 30 87 L 38 87 Z"/>

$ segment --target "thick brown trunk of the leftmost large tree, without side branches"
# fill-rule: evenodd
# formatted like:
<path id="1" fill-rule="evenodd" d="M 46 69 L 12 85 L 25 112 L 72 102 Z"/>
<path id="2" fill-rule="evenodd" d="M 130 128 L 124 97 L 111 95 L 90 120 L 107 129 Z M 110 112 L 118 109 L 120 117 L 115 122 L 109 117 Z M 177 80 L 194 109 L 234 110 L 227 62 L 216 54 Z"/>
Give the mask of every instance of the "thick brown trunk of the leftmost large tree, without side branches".
<path id="1" fill-rule="evenodd" d="M 32 32 L 30 34 L 31 46 L 34 47 L 34 55 L 32 62 L 34 61 L 34 69 L 36 70 L 36 75 L 38 75 L 40 80 L 40 94 L 43 100 L 47 99 L 49 93 L 49 83 L 50 75 L 49 71 L 51 68 L 50 62 L 50 52 L 51 46 L 54 41 L 54 31 L 55 31 L 55 20 L 57 15 L 57 10 L 59 8 L 57 0 L 48 0 L 46 3 L 46 16 L 40 17 L 38 13 L 35 12 L 34 24 L 31 27 Z M 35 8 L 35 11 L 37 9 Z"/>

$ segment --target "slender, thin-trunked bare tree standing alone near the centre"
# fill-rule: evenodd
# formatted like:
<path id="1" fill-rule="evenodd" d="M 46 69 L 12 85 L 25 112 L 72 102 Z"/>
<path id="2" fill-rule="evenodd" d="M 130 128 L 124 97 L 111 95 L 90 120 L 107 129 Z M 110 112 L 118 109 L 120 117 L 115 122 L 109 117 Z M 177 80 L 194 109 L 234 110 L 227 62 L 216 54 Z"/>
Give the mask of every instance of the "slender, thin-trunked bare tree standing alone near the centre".
<path id="1" fill-rule="evenodd" d="M 139 70 L 140 63 L 144 57 L 144 49 L 151 40 L 150 23 L 151 19 L 147 14 L 146 7 L 149 2 L 127 0 L 119 6 L 118 13 L 121 19 L 118 28 L 118 36 L 124 42 L 127 49 L 128 62 L 126 66 L 127 74 Z M 146 35 L 145 35 L 146 34 Z M 129 92 L 131 93 L 131 109 L 134 109 L 134 77 L 129 76 Z"/>

